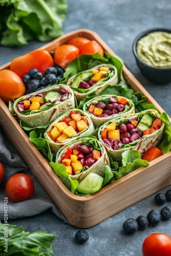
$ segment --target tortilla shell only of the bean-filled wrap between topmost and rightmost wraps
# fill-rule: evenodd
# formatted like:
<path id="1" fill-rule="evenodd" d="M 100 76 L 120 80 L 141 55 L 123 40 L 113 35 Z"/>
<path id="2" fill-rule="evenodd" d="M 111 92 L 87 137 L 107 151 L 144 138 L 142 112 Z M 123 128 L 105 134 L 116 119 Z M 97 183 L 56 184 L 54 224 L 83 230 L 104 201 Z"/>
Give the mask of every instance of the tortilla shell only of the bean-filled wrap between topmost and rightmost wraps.
<path id="1" fill-rule="evenodd" d="M 99 124 L 108 122 L 109 120 L 111 120 L 113 118 L 116 118 L 118 116 L 123 116 L 125 114 L 132 114 L 132 113 L 135 112 L 133 101 L 130 100 L 130 99 L 125 98 L 126 101 L 127 101 L 127 104 L 125 105 L 125 109 L 124 109 L 124 111 L 119 112 L 118 114 L 113 114 L 113 115 L 108 116 L 108 117 L 98 117 L 98 116 L 95 116 L 94 114 L 89 113 L 88 108 L 89 108 L 90 104 L 96 105 L 99 101 L 104 101 L 105 99 L 108 99 L 111 96 L 116 98 L 116 99 L 118 99 L 118 98 L 125 98 L 125 97 L 117 96 L 117 95 L 99 95 L 99 96 L 94 97 L 93 99 L 87 101 L 83 105 L 83 111 L 90 116 L 90 118 L 92 119 L 93 124 L 94 124 L 95 127 L 97 127 L 97 125 L 99 125 Z"/>

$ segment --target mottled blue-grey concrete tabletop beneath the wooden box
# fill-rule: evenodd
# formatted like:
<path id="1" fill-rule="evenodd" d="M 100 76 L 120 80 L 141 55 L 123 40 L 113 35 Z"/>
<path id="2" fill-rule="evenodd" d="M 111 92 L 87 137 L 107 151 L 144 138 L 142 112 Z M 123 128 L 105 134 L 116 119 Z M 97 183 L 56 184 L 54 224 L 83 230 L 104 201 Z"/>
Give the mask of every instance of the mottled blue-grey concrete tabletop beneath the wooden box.
<path id="1" fill-rule="evenodd" d="M 133 53 L 132 42 L 135 36 L 148 28 L 170 28 L 170 0 L 69 0 L 69 9 L 63 32 L 87 28 L 94 30 L 120 56 L 134 76 L 144 88 L 156 99 L 163 110 L 171 116 L 170 88 L 171 83 L 157 85 L 146 80 L 140 73 Z M 10 61 L 15 56 L 34 50 L 44 43 L 30 42 L 27 46 L 16 48 L 0 47 L 0 65 Z M 150 179 L 150 177 L 149 177 Z M 165 193 L 171 186 L 164 188 Z M 123 191 L 124 193 L 124 191 Z M 55 256 L 95 255 L 95 256 L 142 256 L 142 243 L 151 233 L 163 232 L 171 236 L 171 220 L 161 221 L 155 227 L 147 227 L 129 236 L 123 232 L 122 224 L 127 218 L 146 216 L 149 210 L 160 210 L 152 195 L 102 223 L 87 229 L 89 240 L 80 245 L 74 236 L 78 228 L 62 222 L 50 211 L 32 218 L 11 220 L 10 224 L 23 225 L 26 231 L 44 230 L 56 232 L 53 242 Z M 166 204 L 164 204 L 165 206 Z M 170 206 L 170 203 L 167 202 Z"/>

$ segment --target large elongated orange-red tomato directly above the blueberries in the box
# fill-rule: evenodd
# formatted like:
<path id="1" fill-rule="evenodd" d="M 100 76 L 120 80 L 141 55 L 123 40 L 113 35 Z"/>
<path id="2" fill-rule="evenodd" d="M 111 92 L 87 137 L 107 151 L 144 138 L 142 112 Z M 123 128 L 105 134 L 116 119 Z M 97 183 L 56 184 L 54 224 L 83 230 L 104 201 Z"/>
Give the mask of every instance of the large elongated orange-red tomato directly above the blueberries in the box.
<path id="1" fill-rule="evenodd" d="M 14 58 L 11 61 L 10 69 L 23 78 L 31 69 L 37 69 L 44 74 L 47 68 L 53 67 L 53 64 L 54 60 L 50 53 L 44 49 L 39 49 Z"/>

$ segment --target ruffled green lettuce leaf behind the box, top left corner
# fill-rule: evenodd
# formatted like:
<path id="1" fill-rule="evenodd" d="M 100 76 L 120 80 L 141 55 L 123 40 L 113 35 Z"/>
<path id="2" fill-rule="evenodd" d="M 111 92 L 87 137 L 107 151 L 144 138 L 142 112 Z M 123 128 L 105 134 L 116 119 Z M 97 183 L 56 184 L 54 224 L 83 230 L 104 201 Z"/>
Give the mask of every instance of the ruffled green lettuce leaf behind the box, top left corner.
<path id="1" fill-rule="evenodd" d="M 62 34 L 67 0 L 0 1 L 0 44 L 26 45 L 28 40 L 48 41 Z"/>

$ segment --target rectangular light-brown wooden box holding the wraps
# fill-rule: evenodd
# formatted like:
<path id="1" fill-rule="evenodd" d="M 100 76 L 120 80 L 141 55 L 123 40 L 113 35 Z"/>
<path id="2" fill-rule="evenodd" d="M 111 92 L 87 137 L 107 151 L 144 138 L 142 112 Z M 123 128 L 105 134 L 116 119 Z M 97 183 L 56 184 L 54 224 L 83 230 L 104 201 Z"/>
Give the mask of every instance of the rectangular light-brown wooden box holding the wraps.
<path id="1" fill-rule="evenodd" d="M 76 36 L 96 40 L 106 52 L 116 55 L 95 32 L 87 29 L 62 35 L 41 49 L 53 53 L 56 47 L 66 44 L 69 39 Z M 3 65 L 0 70 L 9 69 L 9 65 L 10 63 Z M 134 92 L 141 91 L 147 97 L 147 103 L 155 104 L 159 113 L 164 112 L 125 66 L 123 67 L 123 76 Z M 171 184 L 171 152 L 169 152 L 152 161 L 147 167 L 140 167 L 121 179 L 106 185 L 94 195 L 76 196 L 61 182 L 34 144 L 29 141 L 28 136 L 1 99 L 0 123 L 11 143 L 54 203 L 67 220 L 76 227 L 92 227 Z"/>

